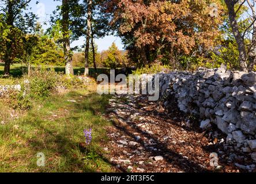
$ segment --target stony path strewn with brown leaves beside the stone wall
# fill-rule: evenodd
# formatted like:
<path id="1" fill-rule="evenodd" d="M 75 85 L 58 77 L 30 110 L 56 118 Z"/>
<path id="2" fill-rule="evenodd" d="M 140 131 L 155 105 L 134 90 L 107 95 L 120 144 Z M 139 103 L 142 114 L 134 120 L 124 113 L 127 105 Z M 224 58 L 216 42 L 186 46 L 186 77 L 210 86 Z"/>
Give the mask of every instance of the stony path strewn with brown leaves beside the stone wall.
<path id="1" fill-rule="evenodd" d="M 175 105 L 167 116 L 147 97 L 115 96 L 106 117 L 114 126 L 107 128 L 110 141 L 102 146 L 117 171 L 239 172 L 234 163 L 222 159 L 224 139 L 208 139 L 199 128 L 190 128 Z M 217 167 L 210 166 L 212 152 L 221 156 Z"/>

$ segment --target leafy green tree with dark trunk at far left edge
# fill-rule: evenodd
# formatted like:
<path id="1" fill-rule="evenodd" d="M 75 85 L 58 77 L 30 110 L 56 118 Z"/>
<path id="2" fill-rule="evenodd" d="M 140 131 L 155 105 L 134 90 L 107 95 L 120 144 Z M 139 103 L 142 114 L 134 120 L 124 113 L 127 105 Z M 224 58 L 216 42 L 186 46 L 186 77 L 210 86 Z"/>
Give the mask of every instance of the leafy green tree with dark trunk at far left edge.
<path id="1" fill-rule="evenodd" d="M 36 16 L 28 12 L 28 5 L 31 0 L 3 0 L 0 5 L 2 21 L 5 22 L 5 34 L 1 40 L 5 42 L 3 60 L 5 61 L 4 74 L 10 75 L 10 64 L 15 57 L 20 39 L 26 33 L 32 32 Z M 18 39 L 20 38 L 20 39 Z"/>

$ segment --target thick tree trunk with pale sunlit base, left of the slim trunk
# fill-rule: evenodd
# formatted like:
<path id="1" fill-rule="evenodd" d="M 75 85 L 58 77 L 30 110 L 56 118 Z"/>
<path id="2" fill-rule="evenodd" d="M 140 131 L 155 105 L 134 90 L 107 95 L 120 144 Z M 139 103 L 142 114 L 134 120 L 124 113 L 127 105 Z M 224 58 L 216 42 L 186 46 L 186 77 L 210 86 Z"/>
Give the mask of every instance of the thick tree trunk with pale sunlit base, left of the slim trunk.
<path id="1" fill-rule="evenodd" d="M 70 53 L 69 0 L 62 0 L 62 34 L 63 52 L 66 63 L 66 75 L 74 75 L 73 61 Z"/>

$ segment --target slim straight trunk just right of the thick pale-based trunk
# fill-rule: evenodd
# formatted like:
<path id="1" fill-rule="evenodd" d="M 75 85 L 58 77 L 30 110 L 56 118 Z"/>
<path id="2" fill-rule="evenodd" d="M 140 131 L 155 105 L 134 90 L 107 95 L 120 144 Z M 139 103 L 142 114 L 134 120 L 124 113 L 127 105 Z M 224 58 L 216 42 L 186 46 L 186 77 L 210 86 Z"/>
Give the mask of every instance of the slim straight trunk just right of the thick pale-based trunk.
<path id="1" fill-rule="evenodd" d="M 85 71 L 84 75 L 89 75 L 89 48 L 91 39 L 91 27 L 92 27 L 92 0 L 88 0 L 87 8 L 87 31 L 86 31 L 86 45 L 85 45 Z"/>

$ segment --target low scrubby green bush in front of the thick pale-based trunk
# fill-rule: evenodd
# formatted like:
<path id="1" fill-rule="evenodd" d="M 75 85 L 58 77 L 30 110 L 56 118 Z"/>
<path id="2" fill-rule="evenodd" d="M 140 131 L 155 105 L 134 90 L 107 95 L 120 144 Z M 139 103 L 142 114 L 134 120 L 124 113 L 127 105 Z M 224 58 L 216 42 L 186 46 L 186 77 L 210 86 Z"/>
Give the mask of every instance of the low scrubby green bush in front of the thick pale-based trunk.
<path id="1" fill-rule="evenodd" d="M 14 109 L 29 109 L 32 102 L 48 97 L 58 86 L 65 89 L 85 87 L 77 76 L 67 76 L 53 69 L 37 68 L 24 76 L 20 91 L 10 91 L 9 104 Z"/>

